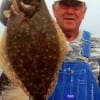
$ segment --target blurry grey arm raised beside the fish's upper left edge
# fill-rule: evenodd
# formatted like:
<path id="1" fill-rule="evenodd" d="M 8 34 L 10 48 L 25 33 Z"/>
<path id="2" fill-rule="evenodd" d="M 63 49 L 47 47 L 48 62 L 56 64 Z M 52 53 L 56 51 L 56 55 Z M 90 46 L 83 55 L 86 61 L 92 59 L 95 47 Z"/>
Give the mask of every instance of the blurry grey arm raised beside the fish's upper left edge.
<path id="1" fill-rule="evenodd" d="M 0 6 L 0 21 L 2 24 L 7 24 L 7 18 L 4 16 L 3 11 L 9 10 L 11 7 L 11 0 L 2 0 L 1 6 Z"/>

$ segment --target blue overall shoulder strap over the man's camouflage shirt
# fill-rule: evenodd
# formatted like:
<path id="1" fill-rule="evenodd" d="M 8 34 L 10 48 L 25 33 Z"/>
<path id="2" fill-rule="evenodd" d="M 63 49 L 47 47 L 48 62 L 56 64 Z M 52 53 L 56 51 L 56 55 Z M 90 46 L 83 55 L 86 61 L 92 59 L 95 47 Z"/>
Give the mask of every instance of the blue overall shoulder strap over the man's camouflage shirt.
<path id="1" fill-rule="evenodd" d="M 90 58 L 91 53 L 91 36 L 87 31 L 83 31 L 83 39 L 82 39 L 82 56 L 86 58 Z"/>

